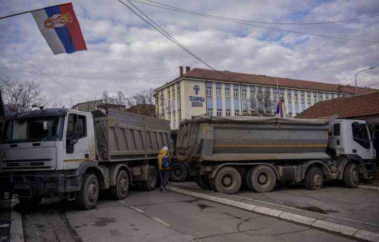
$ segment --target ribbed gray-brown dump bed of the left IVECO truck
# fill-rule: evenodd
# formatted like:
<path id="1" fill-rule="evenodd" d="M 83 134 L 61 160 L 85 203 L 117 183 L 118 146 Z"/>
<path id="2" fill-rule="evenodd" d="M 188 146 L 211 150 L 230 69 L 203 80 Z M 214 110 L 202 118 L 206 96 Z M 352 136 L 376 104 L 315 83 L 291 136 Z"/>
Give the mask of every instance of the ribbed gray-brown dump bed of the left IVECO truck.
<path id="1" fill-rule="evenodd" d="M 156 158 L 164 146 L 173 150 L 168 121 L 116 109 L 93 115 L 99 161 Z"/>

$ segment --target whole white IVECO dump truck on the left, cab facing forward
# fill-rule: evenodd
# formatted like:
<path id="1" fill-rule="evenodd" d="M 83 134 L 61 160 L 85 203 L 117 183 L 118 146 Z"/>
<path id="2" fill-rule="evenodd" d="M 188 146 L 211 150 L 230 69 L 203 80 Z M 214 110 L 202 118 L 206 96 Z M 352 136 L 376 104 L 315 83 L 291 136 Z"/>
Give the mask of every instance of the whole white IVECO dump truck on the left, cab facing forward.
<path id="1" fill-rule="evenodd" d="M 173 151 L 169 122 L 115 109 L 54 108 L 7 117 L 0 144 L 0 198 L 21 205 L 43 197 L 93 208 L 99 191 L 124 199 L 129 185 L 153 190 L 157 154 Z"/>

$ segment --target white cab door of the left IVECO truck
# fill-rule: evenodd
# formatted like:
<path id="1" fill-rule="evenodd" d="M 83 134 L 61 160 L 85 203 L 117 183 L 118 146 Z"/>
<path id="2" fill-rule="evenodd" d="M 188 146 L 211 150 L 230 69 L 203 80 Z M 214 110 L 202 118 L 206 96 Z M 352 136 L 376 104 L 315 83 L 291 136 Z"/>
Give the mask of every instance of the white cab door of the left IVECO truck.
<path id="1" fill-rule="evenodd" d="M 75 169 L 90 156 L 86 116 L 71 113 L 67 117 L 64 168 Z"/>

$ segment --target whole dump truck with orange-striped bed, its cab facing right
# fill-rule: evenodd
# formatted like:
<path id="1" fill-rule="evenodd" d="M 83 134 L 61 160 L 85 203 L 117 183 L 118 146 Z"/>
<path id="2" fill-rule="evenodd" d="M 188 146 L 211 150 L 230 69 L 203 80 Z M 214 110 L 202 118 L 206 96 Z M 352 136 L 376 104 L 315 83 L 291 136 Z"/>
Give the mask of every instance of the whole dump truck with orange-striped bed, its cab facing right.
<path id="1" fill-rule="evenodd" d="M 375 170 L 373 138 L 366 121 L 271 117 L 195 116 L 178 130 L 178 161 L 193 167 L 204 189 L 257 192 L 277 182 L 320 189 L 324 179 L 356 187 Z"/>

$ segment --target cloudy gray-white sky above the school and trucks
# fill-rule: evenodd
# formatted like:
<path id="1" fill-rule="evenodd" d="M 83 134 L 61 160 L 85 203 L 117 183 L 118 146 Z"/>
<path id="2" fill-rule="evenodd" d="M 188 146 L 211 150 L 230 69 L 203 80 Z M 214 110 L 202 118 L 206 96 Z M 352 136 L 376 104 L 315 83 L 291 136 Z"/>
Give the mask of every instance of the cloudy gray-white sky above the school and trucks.
<path id="1" fill-rule="evenodd" d="M 325 22 L 379 14 L 378 0 L 159 1 L 216 16 L 264 22 Z M 0 16 L 65 2 L 1 0 Z M 156 88 L 178 76 L 180 65 L 207 68 L 117 0 L 74 0 L 73 4 L 88 51 L 54 56 L 31 14 L 2 19 L 0 77 L 35 79 L 43 84 L 47 95 L 63 102 L 71 99 L 81 102 L 100 97 L 104 90 L 111 93 L 121 90 L 130 95 Z M 134 4 L 198 57 L 219 70 L 354 85 L 356 71 L 379 65 L 379 43 L 267 30 L 138 2 Z M 379 17 L 325 25 L 258 25 L 379 41 Z M 49 78 L 1 67 L 106 79 Z M 375 82 L 379 82 L 379 67 L 358 76 L 359 85 Z"/>

